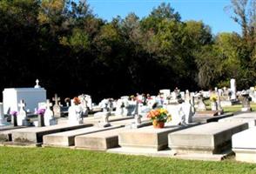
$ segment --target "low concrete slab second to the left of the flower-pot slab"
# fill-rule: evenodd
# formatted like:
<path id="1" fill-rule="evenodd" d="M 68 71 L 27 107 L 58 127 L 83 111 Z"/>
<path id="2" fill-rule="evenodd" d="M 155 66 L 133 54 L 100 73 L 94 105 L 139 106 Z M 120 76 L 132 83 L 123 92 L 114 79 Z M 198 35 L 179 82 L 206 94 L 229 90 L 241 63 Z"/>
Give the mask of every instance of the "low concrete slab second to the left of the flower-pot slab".
<path id="1" fill-rule="evenodd" d="M 120 128 L 121 126 L 111 126 L 111 127 L 87 127 L 83 129 L 78 129 L 74 131 L 64 131 L 59 133 L 53 133 L 49 135 L 45 135 L 43 137 L 44 146 L 71 146 L 75 144 L 75 137 L 90 134 L 98 131 L 107 131 L 112 129 Z"/>

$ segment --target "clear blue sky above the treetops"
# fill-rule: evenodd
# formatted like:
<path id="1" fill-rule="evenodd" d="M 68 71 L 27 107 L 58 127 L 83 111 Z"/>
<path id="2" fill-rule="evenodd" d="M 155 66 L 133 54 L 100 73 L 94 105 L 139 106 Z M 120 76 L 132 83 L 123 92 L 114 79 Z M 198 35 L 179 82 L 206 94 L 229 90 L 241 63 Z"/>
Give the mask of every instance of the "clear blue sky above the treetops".
<path id="1" fill-rule="evenodd" d="M 170 3 L 178 11 L 181 20 L 203 21 L 209 25 L 213 34 L 219 32 L 239 32 L 240 27 L 225 10 L 231 0 L 87 0 L 94 14 L 107 21 L 112 17 L 125 18 L 134 12 L 138 17 L 146 17 L 160 3 Z"/>

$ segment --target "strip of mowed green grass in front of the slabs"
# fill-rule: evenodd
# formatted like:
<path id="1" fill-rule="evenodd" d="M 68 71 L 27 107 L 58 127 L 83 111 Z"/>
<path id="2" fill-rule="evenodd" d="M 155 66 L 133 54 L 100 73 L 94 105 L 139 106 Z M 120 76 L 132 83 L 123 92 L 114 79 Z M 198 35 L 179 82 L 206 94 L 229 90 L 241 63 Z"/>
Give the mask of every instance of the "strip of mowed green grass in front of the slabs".
<path id="1" fill-rule="evenodd" d="M 256 173 L 256 164 L 189 161 L 62 148 L 0 147 L 1 173 Z"/>

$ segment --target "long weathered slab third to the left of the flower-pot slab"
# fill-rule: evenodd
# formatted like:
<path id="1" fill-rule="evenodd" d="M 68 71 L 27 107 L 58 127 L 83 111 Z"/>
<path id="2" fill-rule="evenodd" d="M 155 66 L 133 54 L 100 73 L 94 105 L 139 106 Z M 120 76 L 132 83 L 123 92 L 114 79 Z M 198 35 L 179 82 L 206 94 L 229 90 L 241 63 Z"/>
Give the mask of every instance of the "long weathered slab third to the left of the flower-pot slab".
<path id="1" fill-rule="evenodd" d="M 43 136 L 51 133 L 62 131 L 77 130 L 85 127 L 90 127 L 92 124 L 57 124 L 46 127 L 31 127 L 11 131 L 12 141 L 14 143 L 38 144 L 43 143 Z"/>

